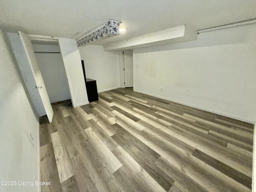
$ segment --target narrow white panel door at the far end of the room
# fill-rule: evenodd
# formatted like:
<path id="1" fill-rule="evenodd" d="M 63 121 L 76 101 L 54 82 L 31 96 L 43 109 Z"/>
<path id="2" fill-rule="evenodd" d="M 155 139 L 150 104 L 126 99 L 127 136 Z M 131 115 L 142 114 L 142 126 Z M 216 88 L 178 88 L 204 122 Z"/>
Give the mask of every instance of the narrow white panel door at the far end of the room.
<path id="1" fill-rule="evenodd" d="M 124 84 L 125 87 L 133 87 L 132 50 L 124 51 Z"/>

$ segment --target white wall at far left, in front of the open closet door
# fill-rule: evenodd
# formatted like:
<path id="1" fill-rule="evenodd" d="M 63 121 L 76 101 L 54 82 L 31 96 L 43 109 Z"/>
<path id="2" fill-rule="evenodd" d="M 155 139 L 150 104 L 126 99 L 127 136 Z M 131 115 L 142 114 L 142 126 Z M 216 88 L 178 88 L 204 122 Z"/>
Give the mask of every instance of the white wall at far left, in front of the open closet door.
<path id="1" fill-rule="evenodd" d="M 0 68 L 0 181 L 35 182 L 40 173 L 38 114 L 1 29 Z M 0 191 L 35 192 L 39 187 L 0 186 Z"/>

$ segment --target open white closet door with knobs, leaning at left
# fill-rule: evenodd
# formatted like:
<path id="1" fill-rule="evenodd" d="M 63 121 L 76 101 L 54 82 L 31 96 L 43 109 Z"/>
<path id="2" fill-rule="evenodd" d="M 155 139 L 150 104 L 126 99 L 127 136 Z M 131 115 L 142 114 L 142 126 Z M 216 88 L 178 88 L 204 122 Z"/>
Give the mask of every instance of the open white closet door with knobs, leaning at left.
<path id="1" fill-rule="evenodd" d="M 8 33 L 8 37 L 34 107 L 39 116 L 46 114 L 51 123 L 53 110 L 30 38 L 20 31 Z"/>

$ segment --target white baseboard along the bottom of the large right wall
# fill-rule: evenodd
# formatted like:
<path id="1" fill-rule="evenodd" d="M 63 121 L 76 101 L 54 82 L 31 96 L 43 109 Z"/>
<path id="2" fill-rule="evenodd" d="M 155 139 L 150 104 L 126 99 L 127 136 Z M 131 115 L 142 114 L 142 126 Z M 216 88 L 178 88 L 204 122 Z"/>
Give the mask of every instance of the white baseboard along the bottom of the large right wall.
<path id="1" fill-rule="evenodd" d="M 186 106 L 189 106 L 189 107 L 193 107 L 193 108 L 196 108 L 196 109 L 200 109 L 200 110 L 204 110 L 204 111 L 207 111 L 207 112 L 211 112 L 211 113 L 214 113 L 214 114 L 222 115 L 222 116 L 229 117 L 229 118 L 232 118 L 232 119 L 240 120 L 240 121 L 243 121 L 243 122 L 252 123 L 252 124 L 255 123 L 254 120 L 244 119 L 244 118 L 237 117 L 237 116 L 234 116 L 234 115 L 230 115 L 230 114 L 222 113 L 222 112 L 219 112 L 219 111 L 203 108 L 203 107 L 200 107 L 200 106 L 188 104 L 188 103 L 185 103 L 185 102 L 173 100 L 173 99 L 170 99 L 170 98 L 166 98 L 166 97 L 162 97 L 162 96 L 146 93 L 146 92 L 143 92 L 143 91 L 138 91 L 138 90 L 134 90 L 134 91 L 142 93 L 142 94 L 150 95 L 150 96 L 153 96 L 153 97 L 156 97 L 156 98 L 164 99 L 164 100 L 167 100 L 167 101 L 171 101 L 171 102 L 179 103 L 179 104 L 182 104 L 182 105 L 186 105 Z"/>

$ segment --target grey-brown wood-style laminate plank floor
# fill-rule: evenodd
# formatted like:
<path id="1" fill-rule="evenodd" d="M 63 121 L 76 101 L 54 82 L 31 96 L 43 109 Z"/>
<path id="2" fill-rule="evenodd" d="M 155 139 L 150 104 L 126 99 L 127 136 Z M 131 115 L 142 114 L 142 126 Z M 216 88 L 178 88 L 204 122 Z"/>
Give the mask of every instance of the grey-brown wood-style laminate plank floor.
<path id="1" fill-rule="evenodd" d="M 42 192 L 250 192 L 253 125 L 133 92 L 52 104 Z"/>

